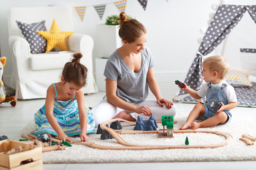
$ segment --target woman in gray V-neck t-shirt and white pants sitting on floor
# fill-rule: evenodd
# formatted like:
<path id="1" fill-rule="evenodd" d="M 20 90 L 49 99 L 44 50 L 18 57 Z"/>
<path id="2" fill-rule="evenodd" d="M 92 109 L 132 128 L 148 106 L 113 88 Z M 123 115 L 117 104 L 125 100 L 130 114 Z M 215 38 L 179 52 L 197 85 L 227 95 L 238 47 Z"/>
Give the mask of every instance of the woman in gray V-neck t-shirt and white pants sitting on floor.
<path id="1" fill-rule="evenodd" d="M 117 18 L 123 45 L 108 58 L 104 71 L 106 96 L 92 108 L 96 126 L 112 118 L 136 121 L 139 115 L 146 120 L 154 115 L 162 120 L 162 115 L 176 114 L 176 107 L 162 98 L 156 82 L 155 60 L 145 47 L 146 28 L 135 19 L 127 19 L 125 12 Z M 148 86 L 156 100 L 146 100 Z"/>

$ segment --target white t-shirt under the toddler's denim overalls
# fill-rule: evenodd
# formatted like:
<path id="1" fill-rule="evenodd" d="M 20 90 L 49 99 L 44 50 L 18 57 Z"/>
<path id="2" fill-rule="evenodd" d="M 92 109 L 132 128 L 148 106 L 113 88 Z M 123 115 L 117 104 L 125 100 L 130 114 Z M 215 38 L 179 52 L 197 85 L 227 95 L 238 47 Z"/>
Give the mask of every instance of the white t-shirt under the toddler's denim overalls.
<path id="1" fill-rule="evenodd" d="M 223 83 L 226 83 L 228 84 L 227 81 L 222 81 L 221 83 L 218 83 L 218 84 L 211 84 L 212 87 L 221 87 Z M 202 85 L 202 87 L 200 88 L 200 90 L 197 91 L 197 94 L 198 96 L 200 97 L 205 97 L 206 95 L 206 91 L 209 89 L 207 83 L 204 83 Z M 224 88 L 225 90 L 225 93 L 226 93 L 226 96 L 227 96 L 227 99 L 228 99 L 228 103 L 231 103 L 231 102 L 237 102 L 237 99 L 236 99 L 236 92 L 235 92 L 235 89 L 232 85 L 228 85 Z"/>

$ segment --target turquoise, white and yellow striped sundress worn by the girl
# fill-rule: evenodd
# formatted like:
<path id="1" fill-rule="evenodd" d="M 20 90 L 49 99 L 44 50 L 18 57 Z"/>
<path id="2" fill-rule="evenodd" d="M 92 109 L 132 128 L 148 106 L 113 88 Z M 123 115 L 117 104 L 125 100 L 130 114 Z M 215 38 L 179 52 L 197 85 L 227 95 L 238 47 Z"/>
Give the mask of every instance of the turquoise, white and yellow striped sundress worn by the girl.
<path id="1" fill-rule="evenodd" d="M 67 136 L 74 136 L 81 134 L 81 126 L 79 121 L 78 115 L 78 105 L 77 100 L 75 100 L 75 95 L 73 100 L 70 99 L 68 101 L 58 101 L 57 100 L 57 90 L 54 83 L 52 83 L 55 92 L 56 98 L 54 99 L 54 106 L 53 106 L 53 115 L 56 118 L 57 122 L 59 123 L 61 129 Z M 86 133 L 95 132 L 95 122 L 92 115 L 91 110 L 89 107 L 85 105 L 86 115 L 87 115 L 87 130 Z M 41 133 L 50 133 L 52 135 L 58 136 L 55 130 L 52 128 L 50 123 L 48 122 L 46 115 L 45 115 L 45 108 L 44 106 L 40 108 L 35 113 L 35 135 L 39 135 Z"/>

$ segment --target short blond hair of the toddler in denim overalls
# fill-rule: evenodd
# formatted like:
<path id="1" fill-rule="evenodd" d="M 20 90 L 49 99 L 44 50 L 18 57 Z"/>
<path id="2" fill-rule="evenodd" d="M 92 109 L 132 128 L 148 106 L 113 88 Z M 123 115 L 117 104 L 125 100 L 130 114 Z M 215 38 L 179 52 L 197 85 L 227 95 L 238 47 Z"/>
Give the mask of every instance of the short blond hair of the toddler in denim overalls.
<path id="1" fill-rule="evenodd" d="M 215 55 L 204 59 L 202 66 L 207 65 L 210 71 L 217 71 L 218 78 L 223 79 L 229 72 L 229 65 L 224 57 Z"/>

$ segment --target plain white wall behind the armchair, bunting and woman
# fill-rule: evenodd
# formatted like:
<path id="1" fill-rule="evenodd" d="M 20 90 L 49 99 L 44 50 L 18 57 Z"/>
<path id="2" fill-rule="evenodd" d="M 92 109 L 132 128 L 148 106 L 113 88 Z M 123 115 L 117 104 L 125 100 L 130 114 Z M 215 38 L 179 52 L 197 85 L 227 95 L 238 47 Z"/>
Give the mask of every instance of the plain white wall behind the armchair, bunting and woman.
<path id="1" fill-rule="evenodd" d="M 7 57 L 4 67 L 4 80 L 8 85 L 12 72 L 12 58 L 8 46 L 7 10 L 10 7 L 30 7 L 48 5 L 87 6 L 84 21 L 81 21 L 74 9 L 74 25 L 76 33 L 92 36 L 94 40 L 93 61 L 96 51 L 96 25 L 105 23 L 107 16 L 119 14 L 114 2 L 118 0 L 0 0 L 0 45 L 1 55 Z M 154 67 L 156 77 L 162 81 L 170 80 L 168 75 L 183 73 L 185 75 L 199 44 L 200 27 L 207 27 L 209 13 L 214 12 L 212 4 L 219 0 L 148 0 L 146 11 L 137 0 L 127 0 L 125 12 L 139 20 L 147 28 L 147 43 L 153 53 L 157 65 Z M 102 20 L 93 5 L 107 4 Z M 36 14 L 31 14 L 36 15 Z M 58 23 L 58 22 L 57 22 Z M 60 28 L 61 29 L 61 28 Z M 94 70 L 95 72 L 95 70 Z M 184 77 L 180 78 L 182 81 Z"/>

